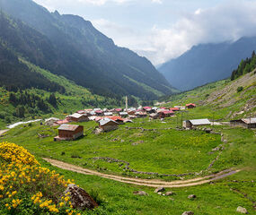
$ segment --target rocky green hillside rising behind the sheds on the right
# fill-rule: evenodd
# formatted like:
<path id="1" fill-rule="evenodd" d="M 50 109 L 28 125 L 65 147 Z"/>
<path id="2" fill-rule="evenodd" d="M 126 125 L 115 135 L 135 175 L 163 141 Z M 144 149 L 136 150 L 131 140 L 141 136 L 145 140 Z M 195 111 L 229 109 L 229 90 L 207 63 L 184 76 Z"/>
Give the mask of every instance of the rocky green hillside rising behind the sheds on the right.
<path id="1" fill-rule="evenodd" d="M 234 81 L 224 80 L 173 95 L 170 105 L 196 103 L 201 111 L 191 110 L 187 117 L 234 119 L 256 115 L 256 70 Z M 197 113 L 193 115 L 193 113 Z"/>

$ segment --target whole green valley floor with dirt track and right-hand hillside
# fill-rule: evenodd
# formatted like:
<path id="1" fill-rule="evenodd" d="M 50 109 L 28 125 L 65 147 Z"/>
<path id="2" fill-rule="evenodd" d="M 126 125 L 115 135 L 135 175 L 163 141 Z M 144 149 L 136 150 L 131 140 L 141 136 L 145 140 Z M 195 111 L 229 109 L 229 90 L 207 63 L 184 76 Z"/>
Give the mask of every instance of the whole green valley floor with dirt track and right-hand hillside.
<path id="1" fill-rule="evenodd" d="M 96 190 L 102 203 L 93 214 L 181 214 L 183 211 L 234 214 L 240 205 L 253 214 L 256 196 L 255 131 L 219 123 L 229 121 L 232 116 L 230 110 L 232 113 L 241 112 L 246 99 L 239 99 L 236 88 L 247 80 L 250 87 L 243 85 L 247 89 L 243 98 L 246 98 L 244 95 L 252 97 L 254 78 L 252 72 L 233 82 L 211 83 L 172 96 L 164 107 L 192 101 L 198 105 L 187 112 L 166 117 L 164 122 L 149 120 L 148 117 L 136 118 L 131 124 L 119 125 L 115 131 L 98 135 L 92 133 L 97 125 L 94 121 L 75 123 L 84 125 L 84 137 L 72 142 L 53 142 L 57 126 L 40 125 L 38 122 L 17 126 L 4 133 L 0 141 L 15 142 L 25 147 L 44 167 L 74 178 L 75 183 L 85 190 Z M 228 103 L 232 98 L 237 97 L 238 100 L 228 108 L 218 107 L 225 102 L 218 103 L 212 98 L 216 98 L 218 90 L 225 92 L 223 89 L 230 87 L 234 88 L 233 96 L 223 96 L 222 99 Z M 207 99 L 202 100 L 207 94 Z M 215 105 L 212 100 L 215 100 Z M 255 108 L 246 109 L 235 117 L 251 116 L 254 111 Z M 181 120 L 202 117 L 213 120 L 213 112 L 216 125 L 203 126 L 211 128 L 213 133 L 206 133 L 200 128 L 181 129 Z M 211 176 L 222 171 L 227 171 L 227 175 L 216 175 L 216 179 Z M 170 198 L 164 192 L 163 195 L 154 193 L 158 186 L 176 194 Z M 134 194 L 141 190 L 148 195 Z M 197 198 L 191 201 L 187 198 L 189 194 L 195 194 Z M 156 204 L 161 207 L 156 207 Z"/>

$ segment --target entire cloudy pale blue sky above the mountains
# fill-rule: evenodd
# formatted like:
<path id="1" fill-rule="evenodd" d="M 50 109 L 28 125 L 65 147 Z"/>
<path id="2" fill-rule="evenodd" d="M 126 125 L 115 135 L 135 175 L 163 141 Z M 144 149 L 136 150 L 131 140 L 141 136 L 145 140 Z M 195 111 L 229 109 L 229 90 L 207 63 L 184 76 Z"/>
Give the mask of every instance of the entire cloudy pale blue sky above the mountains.
<path id="1" fill-rule="evenodd" d="M 154 65 L 202 43 L 256 36 L 256 0 L 34 0 L 80 15 Z"/>

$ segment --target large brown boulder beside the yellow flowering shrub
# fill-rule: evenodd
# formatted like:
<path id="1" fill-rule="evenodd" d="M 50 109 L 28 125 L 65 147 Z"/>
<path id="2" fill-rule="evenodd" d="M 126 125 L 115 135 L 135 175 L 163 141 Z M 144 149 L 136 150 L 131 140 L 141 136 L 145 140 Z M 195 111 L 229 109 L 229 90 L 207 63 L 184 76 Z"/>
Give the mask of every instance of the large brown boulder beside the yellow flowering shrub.
<path id="1" fill-rule="evenodd" d="M 93 210 L 98 207 L 97 202 L 84 191 L 84 189 L 78 187 L 77 185 L 67 185 L 65 194 L 69 196 L 73 208 L 79 210 Z"/>

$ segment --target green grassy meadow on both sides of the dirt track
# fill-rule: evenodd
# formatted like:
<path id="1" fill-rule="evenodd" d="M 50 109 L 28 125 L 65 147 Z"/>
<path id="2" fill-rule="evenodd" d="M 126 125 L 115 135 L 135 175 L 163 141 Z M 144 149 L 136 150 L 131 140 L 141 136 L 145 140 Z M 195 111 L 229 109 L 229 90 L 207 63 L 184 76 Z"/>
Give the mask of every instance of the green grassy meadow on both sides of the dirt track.
<path id="1" fill-rule="evenodd" d="M 196 110 L 199 108 L 192 111 Z M 166 189 L 176 193 L 171 198 L 154 193 L 154 188 L 122 184 L 99 176 L 84 176 L 51 167 L 40 159 L 60 159 L 108 174 L 142 178 L 157 176 L 131 173 L 124 171 L 124 165 L 121 163 L 109 163 L 92 158 L 122 159 L 129 162 L 130 168 L 137 171 L 163 174 L 181 174 L 207 168 L 219 153 L 216 151 L 209 154 L 222 143 L 220 135 L 203 131 L 177 131 L 174 129 L 177 126 L 177 118 L 180 125 L 181 116 L 165 120 L 166 123 L 159 120 L 149 122 L 148 118 L 136 119 L 134 124 L 120 125 L 119 130 L 100 135 L 92 133 L 97 125 L 95 122 L 80 123 L 84 125 L 84 137 L 74 142 L 53 142 L 53 137 L 57 135 L 55 127 L 33 123 L 10 130 L 0 138 L 0 142 L 12 141 L 25 147 L 39 159 L 43 167 L 55 169 L 66 178 L 75 179 L 77 185 L 84 187 L 102 202 L 97 210 L 86 211 L 84 214 L 179 215 L 183 211 L 194 211 L 195 214 L 236 214 L 238 206 L 243 206 L 250 214 L 255 214 L 253 202 L 256 200 L 256 138 L 252 130 L 214 126 L 213 129 L 217 133 L 224 133 L 227 142 L 225 150 L 210 172 L 226 168 L 237 168 L 242 171 L 207 185 Z M 142 132 L 141 129 L 128 130 L 126 127 L 143 127 L 155 131 Z M 172 129 L 165 130 L 170 127 Z M 38 133 L 49 137 L 40 139 Z M 179 179 L 166 176 L 158 178 L 167 181 Z M 134 195 L 133 192 L 138 190 L 143 190 L 149 195 Z M 189 194 L 196 194 L 198 197 L 190 200 Z"/>

